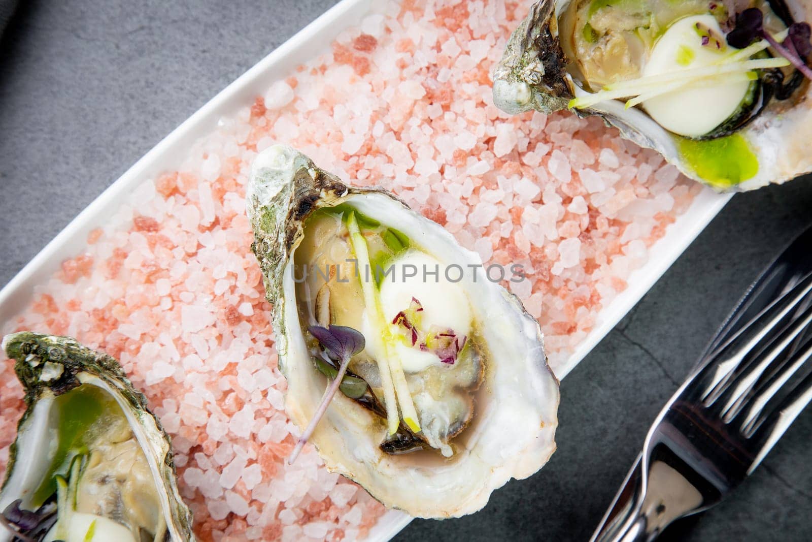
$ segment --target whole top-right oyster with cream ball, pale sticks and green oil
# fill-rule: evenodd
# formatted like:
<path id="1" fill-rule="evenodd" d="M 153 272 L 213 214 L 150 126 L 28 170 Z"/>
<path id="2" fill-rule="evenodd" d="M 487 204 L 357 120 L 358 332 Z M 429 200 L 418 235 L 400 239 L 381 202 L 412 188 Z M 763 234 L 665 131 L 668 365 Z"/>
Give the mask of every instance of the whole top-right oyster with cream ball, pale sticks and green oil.
<path id="1" fill-rule="evenodd" d="M 761 12 L 765 38 L 739 50 L 727 38 L 745 8 Z M 599 115 L 718 190 L 792 180 L 812 171 L 810 85 L 767 34 L 784 39 L 810 10 L 809 0 L 541 0 L 495 68 L 494 102 Z"/>

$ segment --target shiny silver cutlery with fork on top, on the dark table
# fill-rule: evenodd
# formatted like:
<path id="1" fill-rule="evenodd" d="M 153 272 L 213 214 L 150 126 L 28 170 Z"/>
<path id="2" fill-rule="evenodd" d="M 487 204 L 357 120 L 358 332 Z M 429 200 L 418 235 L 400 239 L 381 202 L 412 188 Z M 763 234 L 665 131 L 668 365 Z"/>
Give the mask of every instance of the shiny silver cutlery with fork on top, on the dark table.
<path id="1" fill-rule="evenodd" d="M 654 540 L 715 505 L 812 400 L 810 246 L 812 230 L 745 294 L 654 421 L 592 542 Z"/>

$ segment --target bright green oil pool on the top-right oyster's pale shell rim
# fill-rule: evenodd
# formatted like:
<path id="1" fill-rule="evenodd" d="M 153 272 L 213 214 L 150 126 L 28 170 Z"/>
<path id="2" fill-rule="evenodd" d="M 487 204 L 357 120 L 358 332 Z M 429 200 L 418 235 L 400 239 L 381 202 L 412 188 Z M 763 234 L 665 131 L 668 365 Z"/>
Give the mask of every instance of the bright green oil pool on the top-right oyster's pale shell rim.
<path id="1" fill-rule="evenodd" d="M 741 134 L 708 141 L 680 139 L 680 153 L 708 184 L 728 189 L 758 173 L 758 158 Z"/>

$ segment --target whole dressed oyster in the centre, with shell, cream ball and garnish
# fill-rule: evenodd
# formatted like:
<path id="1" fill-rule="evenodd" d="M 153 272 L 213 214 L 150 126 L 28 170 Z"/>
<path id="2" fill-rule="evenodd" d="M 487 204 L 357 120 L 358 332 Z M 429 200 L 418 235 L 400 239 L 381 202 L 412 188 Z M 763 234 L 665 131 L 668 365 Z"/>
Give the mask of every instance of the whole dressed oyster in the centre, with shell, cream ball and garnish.
<path id="1" fill-rule="evenodd" d="M 247 206 L 286 410 L 301 429 L 326 376 L 344 370 L 330 333 L 352 344 L 342 392 L 309 439 L 328 469 L 384 505 L 446 518 L 542 467 L 558 381 L 538 322 L 491 282 L 497 270 L 486 276 L 476 254 L 391 193 L 347 186 L 287 146 L 256 158 Z"/>

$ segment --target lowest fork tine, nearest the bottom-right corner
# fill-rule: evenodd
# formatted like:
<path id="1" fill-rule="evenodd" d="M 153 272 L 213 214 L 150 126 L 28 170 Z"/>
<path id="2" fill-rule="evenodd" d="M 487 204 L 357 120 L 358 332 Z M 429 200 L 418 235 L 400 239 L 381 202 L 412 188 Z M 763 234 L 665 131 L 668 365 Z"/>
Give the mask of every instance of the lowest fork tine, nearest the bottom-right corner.
<path id="1" fill-rule="evenodd" d="M 812 373 L 786 390 L 784 399 L 766 416 L 754 418 L 754 421 L 749 423 L 749 427 L 745 428 L 749 430 L 745 432 L 745 436 L 749 435 L 749 438 L 762 444 L 753 464 L 747 470 L 747 475 L 758 467 L 810 401 L 812 401 Z"/>

